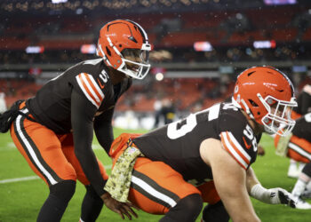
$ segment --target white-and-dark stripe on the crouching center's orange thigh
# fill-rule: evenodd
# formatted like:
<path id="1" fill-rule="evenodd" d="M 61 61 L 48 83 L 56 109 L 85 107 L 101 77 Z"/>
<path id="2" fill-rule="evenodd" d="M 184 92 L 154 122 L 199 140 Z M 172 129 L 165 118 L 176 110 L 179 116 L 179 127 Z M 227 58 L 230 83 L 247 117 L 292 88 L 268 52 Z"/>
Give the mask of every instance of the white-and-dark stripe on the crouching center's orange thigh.
<path id="1" fill-rule="evenodd" d="M 179 196 L 159 186 L 153 179 L 133 170 L 132 188 L 145 195 L 148 199 L 163 205 L 166 208 L 174 207 L 179 201 Z"/>

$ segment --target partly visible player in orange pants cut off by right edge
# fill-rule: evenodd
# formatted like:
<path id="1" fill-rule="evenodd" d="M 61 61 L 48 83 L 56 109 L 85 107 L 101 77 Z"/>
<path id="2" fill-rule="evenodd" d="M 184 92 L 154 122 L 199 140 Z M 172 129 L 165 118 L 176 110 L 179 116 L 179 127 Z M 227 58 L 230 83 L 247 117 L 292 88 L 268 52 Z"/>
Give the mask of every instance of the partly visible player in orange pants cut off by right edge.
<path id="1" fill-rule="evenodd" d="M 306 163 L 302 171 L 299 173 L 299 178 L 291 191 L 295 200 L 296 208 L 308 210 L 311 209 L 311 204 L 303 201 L 300 197 L 310 194 L 311 190 L 307 189 L 307 184 L 311 181 L 311 113 L 303 115 L 296 121 L 296 125 L 292 133 L 287 137 L 280 139 L 275 137 L 276 152 L 279 155 L 288 156 L 291 159 Z"/>

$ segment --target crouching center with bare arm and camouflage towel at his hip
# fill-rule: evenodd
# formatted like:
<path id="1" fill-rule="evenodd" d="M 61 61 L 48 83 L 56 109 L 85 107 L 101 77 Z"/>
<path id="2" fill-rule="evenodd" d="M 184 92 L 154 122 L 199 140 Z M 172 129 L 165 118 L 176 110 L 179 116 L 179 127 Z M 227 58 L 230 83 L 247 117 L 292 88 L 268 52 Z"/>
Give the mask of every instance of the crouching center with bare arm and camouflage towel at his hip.
<path id="1" fill-rule="evenodd" d="M 295 207 L 290 193 L 264 188 L 251 169 L 261 133 L 291 132 L 295 106 L 291 81 L 281 71 L 246 69 L 237 77 L 231 103 L 141 136 L 118 137 L 110 149 L 114 168 L 105 190 L 148 213 L 164 214 L 160 221 L 195 221 L 203 202 L 211 203 L 203 210 L 205 222 L 259 221 L 249 194 Z M 128 187 L 118 184 L 126 183 L 124 178 L 131 181 Z"/>

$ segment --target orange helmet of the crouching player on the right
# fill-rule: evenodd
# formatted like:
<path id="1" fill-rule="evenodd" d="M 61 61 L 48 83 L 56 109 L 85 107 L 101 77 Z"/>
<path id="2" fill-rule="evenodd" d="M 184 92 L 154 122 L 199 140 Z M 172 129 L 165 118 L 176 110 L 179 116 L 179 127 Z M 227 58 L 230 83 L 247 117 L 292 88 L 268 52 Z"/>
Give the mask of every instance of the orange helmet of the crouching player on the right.
<path id="1" fill-rule="evenodd" d="M 244 70 L 237 76 L 232 101 L 267 133 L 285 136 L 295 125 L 291 110 L 297 102 L 291 80 L 275 67 Z"/>

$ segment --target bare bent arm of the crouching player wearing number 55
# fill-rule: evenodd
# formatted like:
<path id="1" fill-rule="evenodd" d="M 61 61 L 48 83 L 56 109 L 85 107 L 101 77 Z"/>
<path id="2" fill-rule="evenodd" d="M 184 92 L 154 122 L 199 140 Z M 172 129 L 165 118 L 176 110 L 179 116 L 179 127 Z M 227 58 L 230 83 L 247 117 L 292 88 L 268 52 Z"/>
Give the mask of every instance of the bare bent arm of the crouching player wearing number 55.
<path id="1" fill-rule="evenodd" d="M 247 193 L 245 170 L 227 154 L 220 141 L 205 139 L 200 155 L 211 166 L 217 192 L 233 221 L 260 221 Z M 243 210 L 237 210 L 237 206 Z"/>

